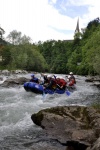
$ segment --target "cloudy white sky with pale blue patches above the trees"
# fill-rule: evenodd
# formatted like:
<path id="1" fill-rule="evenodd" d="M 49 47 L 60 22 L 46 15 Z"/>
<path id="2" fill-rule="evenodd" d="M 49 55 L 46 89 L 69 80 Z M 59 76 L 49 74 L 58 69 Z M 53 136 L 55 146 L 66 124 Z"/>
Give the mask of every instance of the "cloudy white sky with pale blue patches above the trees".
<path id="1" fill-rule="evenodd" d="M 73 39 L 79 27 L 100 17 L 99 0 L 0 0 L 0 27 L 6 37 L 20 31 L 32 42 Z"/>

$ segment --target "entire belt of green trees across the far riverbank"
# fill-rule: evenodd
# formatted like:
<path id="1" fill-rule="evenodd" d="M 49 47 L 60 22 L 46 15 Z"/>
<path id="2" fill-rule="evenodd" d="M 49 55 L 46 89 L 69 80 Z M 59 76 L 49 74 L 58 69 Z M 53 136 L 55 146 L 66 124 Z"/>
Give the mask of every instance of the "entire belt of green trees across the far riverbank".
<path id="1" fill-rule="evenodd" d="M 0 47 L 0 70 L 27 70 L 77 75 L 100 75 L 100 19 L 74 35 L 74 40 L 47 40 L 37 44 L 13 30 Z"/>

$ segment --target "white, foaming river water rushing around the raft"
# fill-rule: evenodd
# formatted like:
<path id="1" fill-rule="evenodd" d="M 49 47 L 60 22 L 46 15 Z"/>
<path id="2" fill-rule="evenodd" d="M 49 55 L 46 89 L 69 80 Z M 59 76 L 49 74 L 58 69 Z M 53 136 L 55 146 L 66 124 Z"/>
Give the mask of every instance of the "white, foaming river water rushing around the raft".
<path id="1" fill-rule="evenodd" d="M 29 74 L 23 76 L 30 78 Z M 76 81 L 77 90 L 70 96 L 54 94 L 43 97 L 26 92 L 23 86 L 0 87 L 0 150 L 63 149 L 44 136 L 44 131 L 33 124 L 31 115 L 48 107 L 91 105 L 100 100 L 98 89 L 86 83 L 85 77 L 76 76 Z"/>

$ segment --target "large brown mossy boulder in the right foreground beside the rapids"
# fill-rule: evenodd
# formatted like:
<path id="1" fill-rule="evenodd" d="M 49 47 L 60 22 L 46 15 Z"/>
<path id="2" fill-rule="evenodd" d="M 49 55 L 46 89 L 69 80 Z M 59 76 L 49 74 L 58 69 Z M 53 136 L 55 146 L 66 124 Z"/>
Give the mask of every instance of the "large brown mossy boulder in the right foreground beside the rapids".
<path id="1" fill-rule="evenodd" d="M 67 143 L 67 150 L 82 150 L 82 147 L 86 150 L 87 146 L 100 137 L 100 114 L 92 107 L 48 108 L 33 114 L 31 119 L 50 137 L 58 139 L 61 143 Z"/>

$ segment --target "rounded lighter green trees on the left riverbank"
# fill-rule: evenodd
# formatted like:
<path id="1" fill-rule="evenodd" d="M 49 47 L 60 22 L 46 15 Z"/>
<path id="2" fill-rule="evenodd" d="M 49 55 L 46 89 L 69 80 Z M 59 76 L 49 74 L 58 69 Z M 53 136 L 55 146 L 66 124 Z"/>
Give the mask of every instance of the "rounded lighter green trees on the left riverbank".
<path id="1" fill-rule="evenodd" d="M 7 46 L 2 50 L 2 66 L 8 69 L 45 71 L 48 69 L 45 59 L 36 46 L 31 44 Z"/>

